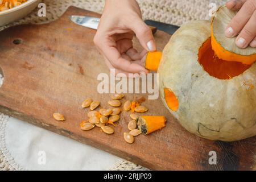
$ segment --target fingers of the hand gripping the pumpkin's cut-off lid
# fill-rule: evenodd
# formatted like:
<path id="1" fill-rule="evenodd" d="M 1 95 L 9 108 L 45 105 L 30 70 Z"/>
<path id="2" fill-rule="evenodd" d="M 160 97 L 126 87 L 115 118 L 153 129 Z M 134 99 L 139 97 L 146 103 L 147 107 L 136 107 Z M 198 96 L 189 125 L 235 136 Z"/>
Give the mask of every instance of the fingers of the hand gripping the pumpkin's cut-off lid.
<path id="1" fill-rule="evenodd" d="M 237 36 L 236 44 L 240 48 L 256 47 L 256 0 L 232 0 L 226 7 L 238 11 L 226 27 L 225 35 L 228 38 Z"/>

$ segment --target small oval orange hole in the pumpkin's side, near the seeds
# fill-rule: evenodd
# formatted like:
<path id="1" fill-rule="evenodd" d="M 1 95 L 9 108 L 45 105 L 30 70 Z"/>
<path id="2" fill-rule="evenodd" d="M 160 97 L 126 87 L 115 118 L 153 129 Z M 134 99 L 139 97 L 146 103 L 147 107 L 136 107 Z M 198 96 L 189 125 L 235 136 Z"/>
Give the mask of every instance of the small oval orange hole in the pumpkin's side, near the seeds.
<path id="1" fill-rule="evenodd" d="M 179 100 L 171 89 L 164 88 L 164 99 L 171 110 L 177 111 L 179 109 Z"/>

